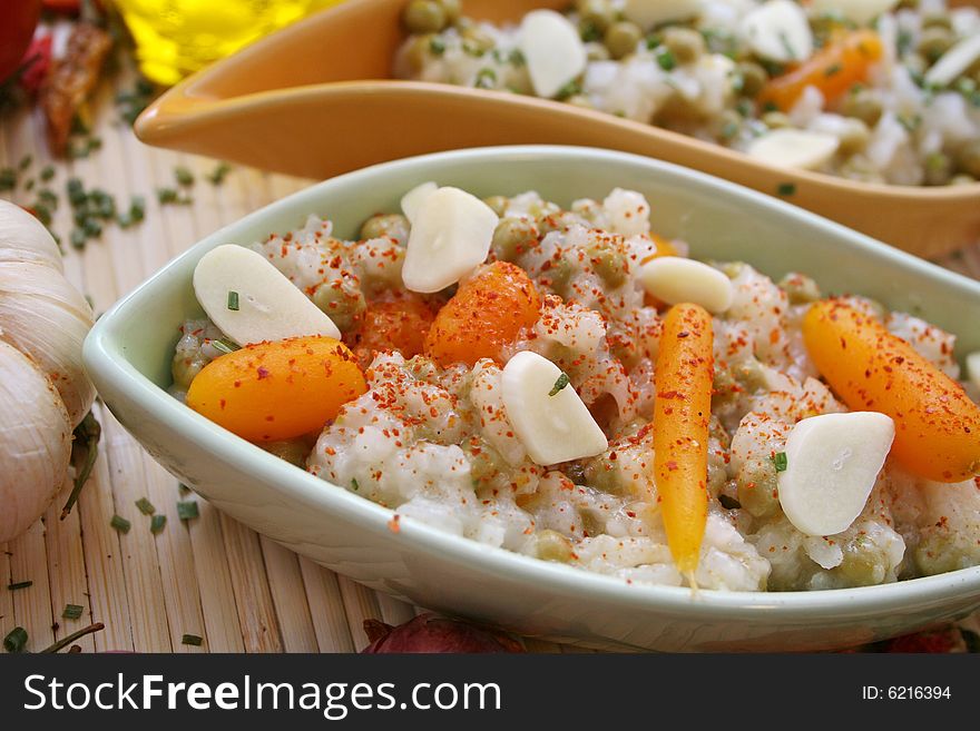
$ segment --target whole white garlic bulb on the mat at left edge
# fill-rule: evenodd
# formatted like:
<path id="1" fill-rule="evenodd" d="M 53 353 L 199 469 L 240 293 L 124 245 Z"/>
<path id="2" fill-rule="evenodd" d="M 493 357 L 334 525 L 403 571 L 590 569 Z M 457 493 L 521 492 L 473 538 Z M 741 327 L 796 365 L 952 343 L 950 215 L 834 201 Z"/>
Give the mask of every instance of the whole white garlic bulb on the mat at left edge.
<path id="1" fill-rule="evenodd" d="M 95 399 L 81 364 L 91 308 L 40 221 L 0 200 L 0 543 L 65 484 L 71 432 Z"/>

